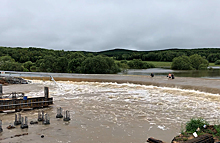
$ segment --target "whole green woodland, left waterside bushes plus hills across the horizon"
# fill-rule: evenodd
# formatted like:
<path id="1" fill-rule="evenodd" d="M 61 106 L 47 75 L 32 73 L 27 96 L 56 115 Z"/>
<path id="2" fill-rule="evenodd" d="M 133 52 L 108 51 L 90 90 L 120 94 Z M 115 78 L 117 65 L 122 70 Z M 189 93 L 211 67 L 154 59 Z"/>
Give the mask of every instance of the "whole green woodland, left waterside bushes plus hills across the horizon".
<path id="1" fill-rule="evenodd" d="M 133 51 L 114 49 L 101 52 L 64 51 L 43 48 L 0 47 L 0 70 L 69 73 L 117 73 L 128 68 L 150 68 L 145 61 L 172 62 L 175 57 L 197 54 L 209 62 L 220 60 L 220 49 L 167 49 Z M 117 61 L 116 61 L 117 60 Z M 120 61 L 120 62 L 118 62 Z M 208 62 L 207 61 L 207 62 Z"/>

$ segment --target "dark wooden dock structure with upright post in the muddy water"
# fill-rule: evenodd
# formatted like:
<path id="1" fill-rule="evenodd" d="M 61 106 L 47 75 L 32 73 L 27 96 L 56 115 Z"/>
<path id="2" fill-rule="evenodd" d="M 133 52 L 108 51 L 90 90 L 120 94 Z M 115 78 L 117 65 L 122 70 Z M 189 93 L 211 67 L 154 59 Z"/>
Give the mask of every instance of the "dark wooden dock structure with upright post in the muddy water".
<path id="1" fill-rule="evenodd" d="M 44 87 L 44 97 L 16 96 L 13 93 L 11 98 L 3 98 L 2 86 L 0 85 L 0 112 L 6 110 L 20 111 L 22 109 L 48 107 L 53 104 L 53 97 L 49 97 L 48 87 Z"/>

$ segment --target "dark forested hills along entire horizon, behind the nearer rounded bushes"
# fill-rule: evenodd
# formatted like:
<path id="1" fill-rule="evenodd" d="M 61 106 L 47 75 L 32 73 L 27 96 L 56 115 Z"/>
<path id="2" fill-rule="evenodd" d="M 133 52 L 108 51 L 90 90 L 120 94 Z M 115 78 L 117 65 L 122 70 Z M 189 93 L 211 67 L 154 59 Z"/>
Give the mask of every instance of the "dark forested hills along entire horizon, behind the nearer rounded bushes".
<path id="1" fill-rule="evenodd" d="M 152 50 L 152 51 L 134 51 L 127 49 L 113 49 L 100 52 L 89 51 L 64 51 L 64 50 L 49 50 L 43 48 L 10 48 L 0 47 L 0 56 L 11 56 L 16 62 L 24 63 L 26 61 L 36 62 L 44 56 L 52 55 L 54 57 L 73 58 L 71 54 L 81 53 L 86 57 L 105 55 L 113 57 L 115 60 L 133 60 L 141 59 L 142 61 L 167 61 L 171 62 L 173 58 L 194 54 L 201 55 L 209 62 L 215 62 L 220 59 L 220 48 L 200 48 L 200 49 L 166 49 L 166 50 Z"/>

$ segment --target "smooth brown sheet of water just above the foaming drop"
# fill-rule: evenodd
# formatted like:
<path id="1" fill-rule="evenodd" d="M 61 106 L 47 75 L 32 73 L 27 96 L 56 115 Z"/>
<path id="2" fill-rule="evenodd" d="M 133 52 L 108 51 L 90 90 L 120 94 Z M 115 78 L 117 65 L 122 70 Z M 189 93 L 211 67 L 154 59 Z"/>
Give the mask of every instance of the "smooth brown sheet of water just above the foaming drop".
<path id="1" fill-rule="evenodd" d="M 26 79 L 51 80 L 50 77 L 23 77 Z M 220 93 L 220 80 L 202 79 L 191 77 L 175 77 L 168 79 L 161 76 L 142 76 L 142 75 L 110 75 L 110 74 L 72 74 L 66 76 L 53 77 L 55 81 L 88 81 L 88 82 L 116 82 L 116 83 L 134 83 L 141 85 L 154 85 L 159 87 L 174 87 L 180 89 L 192 89 L 201 92 L 213 94 Z"/>

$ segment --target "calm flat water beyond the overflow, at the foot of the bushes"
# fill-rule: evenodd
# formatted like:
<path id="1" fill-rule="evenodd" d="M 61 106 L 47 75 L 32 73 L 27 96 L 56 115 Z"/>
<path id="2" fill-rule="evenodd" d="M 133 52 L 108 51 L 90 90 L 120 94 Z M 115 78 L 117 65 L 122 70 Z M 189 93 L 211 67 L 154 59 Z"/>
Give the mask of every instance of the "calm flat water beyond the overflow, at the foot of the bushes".
<path id="1" fill-rule="evenodd" d="M 120 72 L 118 75 L 150 75 L 154 73 L 155 76 L 165 77 L 169 73 L 173 73 L 176 77 L 196 77 L 196 78 L 207 78 L 207 79 L 220 79 L 220 67 L 211 67 L 210 70 L 171 70 L 164 68 L 150 68 L 150 69 L 129 69 L 126 72 Z M 53 77 L 71 77 L 73 75 L 84 75 L 84 74 L 73 74 L 73 73 L 44 73 L 44 72 L 14 72 L 5 71 L 6 75 L 9 76 L 21 76 L 21 77 L 41 77 L 41 76 L 53 76 Z"/>

